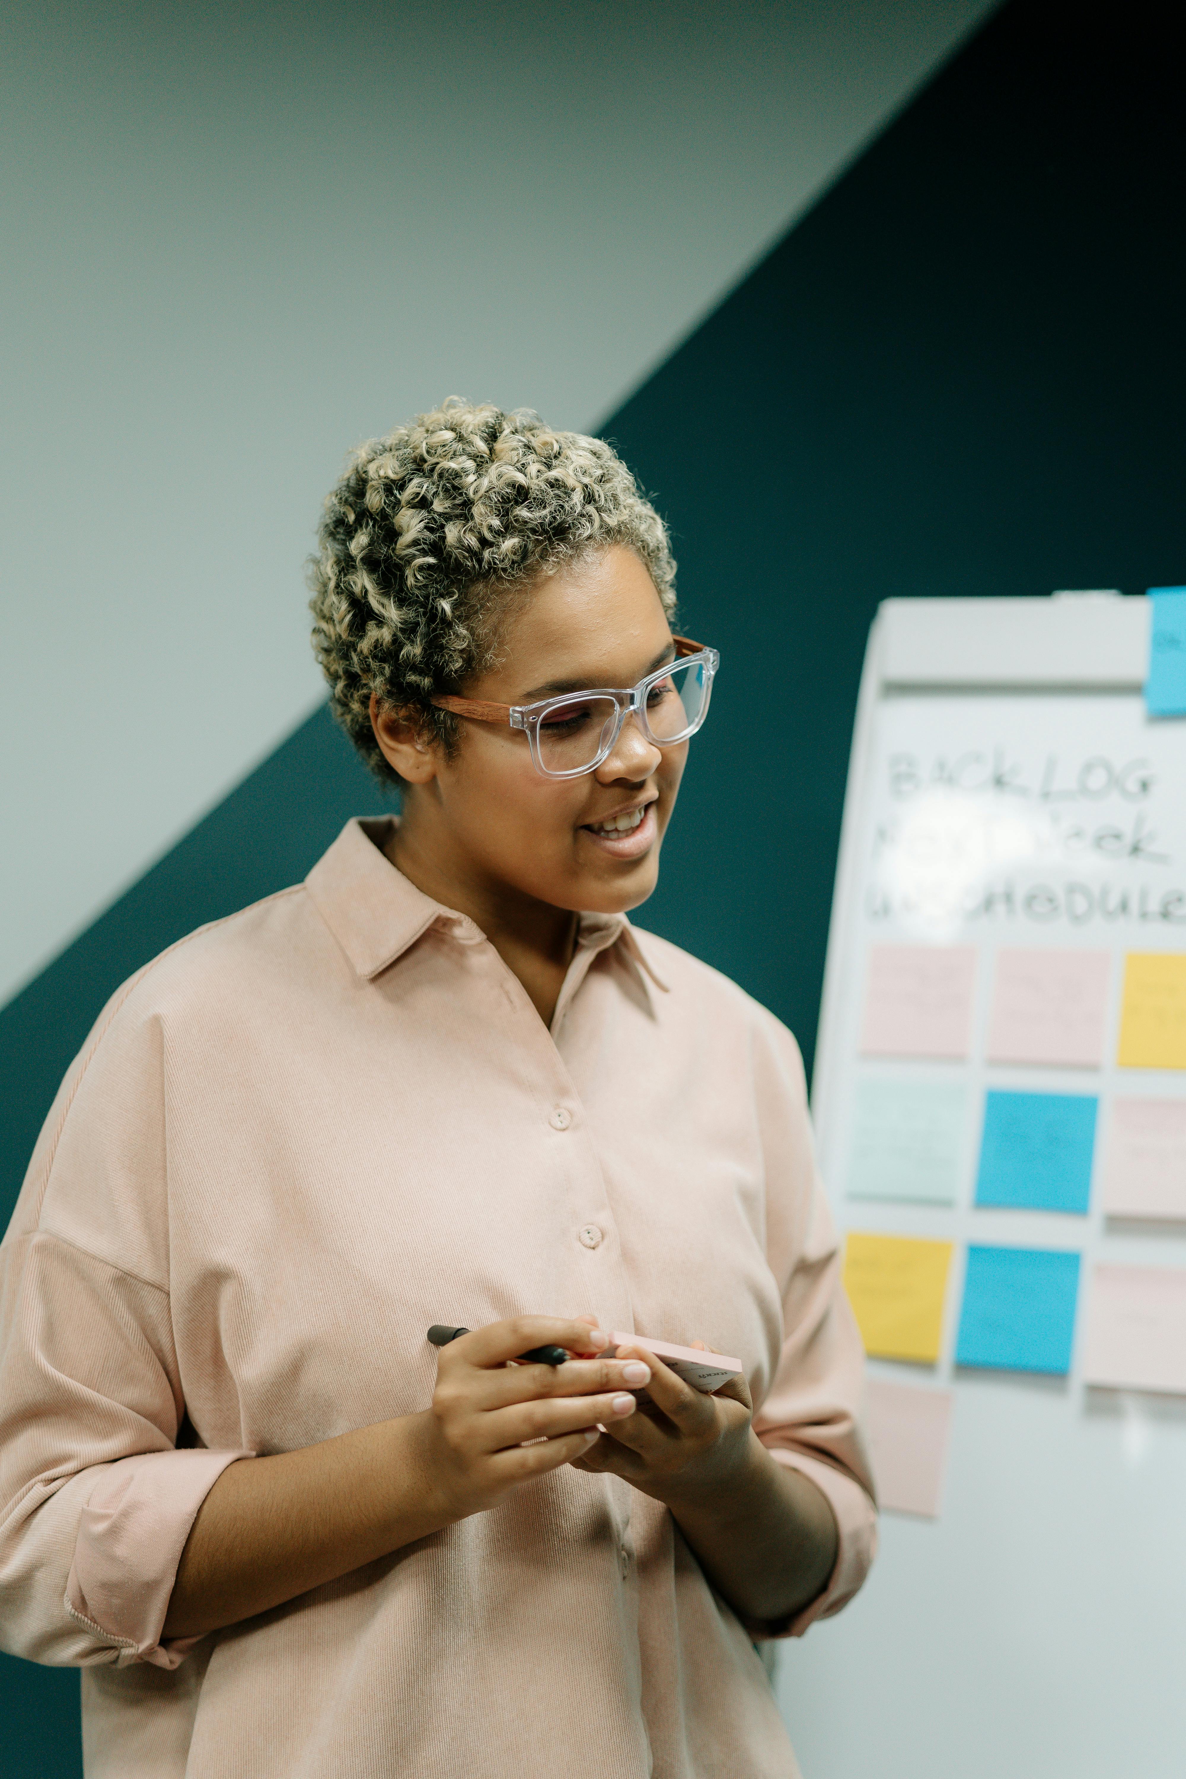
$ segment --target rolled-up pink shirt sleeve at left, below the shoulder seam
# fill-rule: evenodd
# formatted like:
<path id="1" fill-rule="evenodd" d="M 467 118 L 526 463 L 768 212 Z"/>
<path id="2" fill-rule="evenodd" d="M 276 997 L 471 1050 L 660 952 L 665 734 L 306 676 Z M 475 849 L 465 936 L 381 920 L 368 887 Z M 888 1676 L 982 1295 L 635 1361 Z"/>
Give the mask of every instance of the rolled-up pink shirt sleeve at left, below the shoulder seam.
<path id="1" fill-rule="evenodd" d="M 174 1446 L 167 1300 L 57 1236 L 5 1244 L 0 1644 L 176 1667 L 162 1644 L 197 1509 L 245 1450 Z"/>

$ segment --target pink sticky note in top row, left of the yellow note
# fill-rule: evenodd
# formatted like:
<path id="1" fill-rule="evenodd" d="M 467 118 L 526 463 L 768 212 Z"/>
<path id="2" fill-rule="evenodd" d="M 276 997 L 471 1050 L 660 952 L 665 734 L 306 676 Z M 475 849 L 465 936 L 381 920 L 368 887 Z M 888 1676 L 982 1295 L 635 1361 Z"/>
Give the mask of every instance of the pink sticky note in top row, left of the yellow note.
<path id="1" fill-rule="evenodd" d="M 998 952 L 989 1062 L 1097 1069 L 1110 975 L 1110 952 Z"/>

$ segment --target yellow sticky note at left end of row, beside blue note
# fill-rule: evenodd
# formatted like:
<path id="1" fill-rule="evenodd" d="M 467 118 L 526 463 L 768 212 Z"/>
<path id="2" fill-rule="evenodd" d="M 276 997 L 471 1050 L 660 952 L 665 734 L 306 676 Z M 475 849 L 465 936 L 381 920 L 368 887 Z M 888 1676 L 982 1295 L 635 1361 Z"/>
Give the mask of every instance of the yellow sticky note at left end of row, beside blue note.
<path id="1" fill-rule="evenodd" d="M 866 1352 L 935 1363 L 950 1265 L 950 1242 L 848 1233 L 845 1290 Z"/>

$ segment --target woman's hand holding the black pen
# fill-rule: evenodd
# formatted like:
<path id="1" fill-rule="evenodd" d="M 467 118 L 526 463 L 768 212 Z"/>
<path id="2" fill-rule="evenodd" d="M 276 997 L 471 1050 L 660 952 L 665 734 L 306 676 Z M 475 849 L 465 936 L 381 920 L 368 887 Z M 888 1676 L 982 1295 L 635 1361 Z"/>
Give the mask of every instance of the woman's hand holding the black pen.
<path id="1" fill-rule="evenodd" d="M 564 1364 L 509 1364 L 533 1347 L 578 1354 Z M 571 1464 L 608 1425 L 635 1413 L 651 1381 L 638 1359 L 601 1357 L 610 1336 L 587 1322 L 512 1316 L 441 1348 L 432 1407 L 418 1416 L 441 1516 L 466 1519 L 532 1477 Z M 525 1441 L 532 1441 L 525 1445 Z"/>

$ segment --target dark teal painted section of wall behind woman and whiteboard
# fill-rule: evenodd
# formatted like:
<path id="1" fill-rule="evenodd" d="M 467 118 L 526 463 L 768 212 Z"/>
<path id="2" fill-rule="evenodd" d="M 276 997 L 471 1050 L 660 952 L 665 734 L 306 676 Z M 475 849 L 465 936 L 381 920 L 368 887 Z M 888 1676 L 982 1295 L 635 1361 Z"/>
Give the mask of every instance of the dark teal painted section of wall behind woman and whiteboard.
<path id="1" fill-rule="evenodd" d="M 809 1053 L 877 601 L 1186 578 L 1184 85 L 1166 7 L 1012 0 L 605 429 L 724 655 L 640 920 Z M 0 1012 L 0 1219 L 123 977 L 377 801 L 313 717 Z M 78 1772 L 75 1699 L 0 1663 L 0 1779 Z"/>

